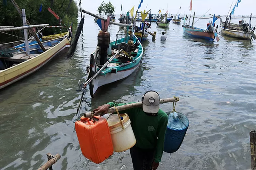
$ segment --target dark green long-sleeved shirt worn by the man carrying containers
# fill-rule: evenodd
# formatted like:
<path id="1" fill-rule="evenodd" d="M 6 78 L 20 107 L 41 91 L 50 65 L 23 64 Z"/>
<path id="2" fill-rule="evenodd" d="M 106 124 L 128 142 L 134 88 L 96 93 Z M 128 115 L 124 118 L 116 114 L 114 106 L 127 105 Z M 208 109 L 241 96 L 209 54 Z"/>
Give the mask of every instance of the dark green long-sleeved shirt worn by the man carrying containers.
<path id="1" fill-rule="evenodd" d="M 125 103 L 109 102 L 110 107 L 125 105 Z M 141 149 L 155 149 L 155 162 L 161 162 L 163 143 L 168 122 L 168 116 L 159 109 L 157 116 L 144 113 L 142 107 L 126 109 L 119 113 L 126 113 L 131 120 L 131 127 L 137 140 L 136 147 Z"/>

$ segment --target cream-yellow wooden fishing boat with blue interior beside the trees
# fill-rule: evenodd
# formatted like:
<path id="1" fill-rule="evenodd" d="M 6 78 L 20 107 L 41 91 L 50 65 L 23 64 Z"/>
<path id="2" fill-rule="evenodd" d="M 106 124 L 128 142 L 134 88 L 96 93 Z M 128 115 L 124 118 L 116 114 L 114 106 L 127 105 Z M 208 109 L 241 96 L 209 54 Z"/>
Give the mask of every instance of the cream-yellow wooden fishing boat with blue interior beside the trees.
<path id="1" fill-rule="evenodd" d="M 45 52 L 38 44 L 33 44 L 30 45 L 30 47 L 33 46 L 30 54 L 19 51 L 13 53 L 12 57 L 0 57 L 0 89 L 40 69 L 62 50 L 70 47 L 71 39 L 70 27 L 65 36 L 44 41 L 42 44 L 46 49 Z"/>

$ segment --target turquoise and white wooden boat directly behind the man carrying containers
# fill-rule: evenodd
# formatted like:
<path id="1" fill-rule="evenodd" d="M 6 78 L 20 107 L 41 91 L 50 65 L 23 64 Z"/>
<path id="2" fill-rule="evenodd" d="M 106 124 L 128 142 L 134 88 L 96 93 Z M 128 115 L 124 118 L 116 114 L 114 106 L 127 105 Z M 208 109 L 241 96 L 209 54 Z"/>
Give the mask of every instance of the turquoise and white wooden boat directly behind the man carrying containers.
<path id="1" fill-rule="evenodd" d="M 101 47 L 97 47 L 96 51 L 91 54 L 90 65 L 87 66 L 87 81 L 102 67 L 100 63 L 101 56 L 99 54 L 100 48 Z M 128 77 L 140 65 L 143 47 L 137 36 L 129 35 L 128 37 L 117 39 L 110 43 L 110 48 L 112 49 L 112 54 L 108 56 L 107 60 L 110 61 L 114 55 L 117 55 L 112 61 L 107 63 L 106 68 L 102 69 L 98 76 L 89 83 L 91 97 L 95 96 L 99 87 Z M 121 48 L 124 51 L 120 52 Z M 129 53 L 128 51 L 130 51 L 131 55 L 127 55 Z"/>

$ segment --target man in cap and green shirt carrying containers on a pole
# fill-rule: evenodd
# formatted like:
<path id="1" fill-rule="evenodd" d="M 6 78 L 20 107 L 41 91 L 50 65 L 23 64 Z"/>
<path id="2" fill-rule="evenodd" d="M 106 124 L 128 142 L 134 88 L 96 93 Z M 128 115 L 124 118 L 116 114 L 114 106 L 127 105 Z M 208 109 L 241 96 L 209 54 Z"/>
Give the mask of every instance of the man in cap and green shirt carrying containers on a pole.
<path id="1" fill-rule="evenodd" d="M 159 109 L 160 97 L 156 91 L 145 92 L 142 106 L 126 109 L 137 143 L 130 149 L 134 170 L 156 170 L 161 162 L 163 143 L 168 116 Z M 121 106 L 114 102 L 106 103 L 94 109 L 95 115 L 103 116 L 110 107 Z"/>

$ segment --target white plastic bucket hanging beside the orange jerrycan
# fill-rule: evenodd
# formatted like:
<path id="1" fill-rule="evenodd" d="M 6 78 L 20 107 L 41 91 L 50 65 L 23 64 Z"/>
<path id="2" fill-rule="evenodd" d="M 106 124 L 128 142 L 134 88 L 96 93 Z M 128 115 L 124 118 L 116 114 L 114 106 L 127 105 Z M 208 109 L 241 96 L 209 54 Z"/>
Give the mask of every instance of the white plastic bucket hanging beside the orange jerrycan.
<path id="1" fill-rule="evenodd" d="M 117 127 L 110 128 L 110 134 L 115 152 L 126 151 L 136 144 L 136 139 L 131 128 L 131 121 L 129 116 L 127 114 L 125 115 L 128 117 L 128 120 L 123 122 L 124 129 L 122 128 L 122 124 L 120 122 Z"/>

